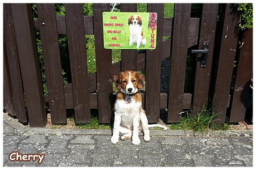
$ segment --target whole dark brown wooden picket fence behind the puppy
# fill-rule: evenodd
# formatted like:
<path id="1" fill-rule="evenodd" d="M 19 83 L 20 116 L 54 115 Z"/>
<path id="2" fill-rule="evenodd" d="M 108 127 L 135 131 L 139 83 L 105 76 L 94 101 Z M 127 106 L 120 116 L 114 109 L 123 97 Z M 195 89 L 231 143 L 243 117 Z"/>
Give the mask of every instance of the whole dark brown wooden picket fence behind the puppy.
<path id="1" fill-rule="evenodd" d="M 236 35 L 237 19 L 229 4 L 205 3 L 201 19 L 191 18 L 191 4 L 175 4 L 174 18 L 164 18 L 164 5 L 147 4 L 158 13 L 155 50 L 121 50 L 121 61 L 112 63 L 112 50 L 104 49 L 102 12 L 109 4 L 93 4 L 93 16 L 84 16 L 82 4 L 65 4 L 65 15 L 56 15 L 53 3 L 37 4 L 38 20 L 30 4 L 3 5 L 3 109 L 19 122 L 39 127 L 47 124 L 49 103 L 52 124 L 67 123 L 66 109 L 75 109 L 75 122 L 90 122 L 90 109 L 98 109 L 100 123 L 113 122 L 112 77 L 123 70 L 146 68 L 143 107 L 148 122 L 159 122 L 160 109 L 167 109 L 167 122 L 180 122 L 183 109 L 201 108 L 209 99 L 215 105 L 218 124 L 252 122 L 250 80 L 253 29 Z M 137 4 L 121 4 L 121 11 L 136 12 Z M 220 19 L 217 21 L 217 16 Z M 42 41 L 48 95 L 43 95 L 35 28 Z M 67 34 L 72 83 L 63 85 L 58 35 Z M 88 74 L 85 35 L 94 35 L 97 71 Z M 163 40 L 163 36 L 171 36 Z M 188 48 L 209 43 L 207 66 L 197 62 L 192 93 L 184 93 Z M 240 43 L 239 43 L 240 42 Z M 170 90 L 160 93 L 162 60 L 171 56 Z M 198 54 L 198 60 L 203 58 Z M 234 61 L 238 65 L 234 70 Z M 233 74 L 235 73 L 235 74 Z M 235 78 L 235 79 L 234 79 Z M 232 82 L 233 81 L 233 82 Z M 230 88 L 233 86 L 233 88 Z M 213 100 L 214 99 L 214 100 Z"/>

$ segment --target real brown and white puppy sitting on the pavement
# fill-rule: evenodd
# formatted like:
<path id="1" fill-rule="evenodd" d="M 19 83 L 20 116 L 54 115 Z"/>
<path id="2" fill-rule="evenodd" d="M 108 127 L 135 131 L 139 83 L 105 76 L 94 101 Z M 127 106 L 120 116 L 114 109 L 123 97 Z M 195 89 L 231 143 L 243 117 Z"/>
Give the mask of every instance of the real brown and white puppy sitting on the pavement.
<path id="1" fill-rule="evenodd" d="M 146 113 L 142 108 L 141 91 L 145 78 L 143 74 L 136 71 L 124 71 L 115 75 L 113 81 L 119 90 L 117 100 L 114 105 L 114 129 L 111 138 L 112 143 L 117 143 L 119 133 L 124 133 L 121 137 L 126 140 L 132 137 L 132 143 L 139 145 L 139 131 L 144 133 L 144 141 L 150 141 L 148 128 L 159 127 L 167 130 L 163 125 L 148 125 Z"/>

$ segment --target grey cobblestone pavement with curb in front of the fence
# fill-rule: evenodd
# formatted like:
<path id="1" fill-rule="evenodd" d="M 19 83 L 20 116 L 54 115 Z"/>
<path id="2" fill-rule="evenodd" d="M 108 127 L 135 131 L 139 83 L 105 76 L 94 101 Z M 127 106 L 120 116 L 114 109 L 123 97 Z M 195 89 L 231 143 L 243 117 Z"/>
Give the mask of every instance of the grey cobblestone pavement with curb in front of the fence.
<path id="1" fill-rule="evenodd" d="M 4 167 L 253 167 L 253 131 L 150 130 L 150 142 L 110 142 L 111 130 L 29 128 L 3 116 Z M 35 161 L 30 157 L 35 157 Z M 22 157 L 23 156 L 23 157 Z M 37 156 L 37 157 L 36 157 Z M 40 156 L 44 156 L 39 163 Z M 20 161 L 23 159 L 27 161 Z"/>

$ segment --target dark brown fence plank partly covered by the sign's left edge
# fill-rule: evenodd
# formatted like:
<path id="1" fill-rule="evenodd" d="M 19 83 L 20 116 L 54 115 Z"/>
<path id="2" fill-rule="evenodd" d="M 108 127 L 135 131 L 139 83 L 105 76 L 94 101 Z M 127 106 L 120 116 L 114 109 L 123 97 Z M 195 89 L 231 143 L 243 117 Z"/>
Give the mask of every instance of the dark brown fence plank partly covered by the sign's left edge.
<path id="1" fill-rule="evenodd" d="M 93 3 L 93 26 L 96 50 L 98 116 L 100 123 L 112 121 L 113 83 L 112 51 L 104 49 L 102 12 L 109 11 L 109 3 Z"/>

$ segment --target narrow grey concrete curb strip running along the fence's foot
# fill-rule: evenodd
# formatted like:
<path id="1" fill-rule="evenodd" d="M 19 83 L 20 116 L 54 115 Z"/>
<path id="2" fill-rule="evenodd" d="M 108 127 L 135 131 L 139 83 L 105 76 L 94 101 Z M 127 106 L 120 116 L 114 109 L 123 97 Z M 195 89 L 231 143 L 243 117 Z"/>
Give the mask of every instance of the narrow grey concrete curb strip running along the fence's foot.
<path id="1" fill-rule="evenodd" d="M 105 129 L 47 129 L 30 128 L 10 117 L 7 113 L 3 114 L 3 124 L 13 130 L 14 135 L 112 135 L 111 130 Z M 8 132 L 9 133 L 9 132 Z M 6 133 L 4 133 L 6 135 Z M 10 135 L 10 134 L 9 134 Z M 140 134 L 142 135 L 142 133 Z M 152 136 L 193 136 L 193 131 L 189 130 L 150 130 Z M 215 130 L 207 133 L 196 133 L 199 137 L 252 137 L 253 130 Z"/>

